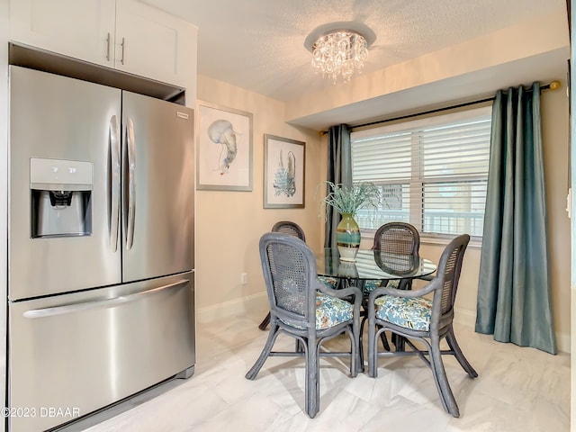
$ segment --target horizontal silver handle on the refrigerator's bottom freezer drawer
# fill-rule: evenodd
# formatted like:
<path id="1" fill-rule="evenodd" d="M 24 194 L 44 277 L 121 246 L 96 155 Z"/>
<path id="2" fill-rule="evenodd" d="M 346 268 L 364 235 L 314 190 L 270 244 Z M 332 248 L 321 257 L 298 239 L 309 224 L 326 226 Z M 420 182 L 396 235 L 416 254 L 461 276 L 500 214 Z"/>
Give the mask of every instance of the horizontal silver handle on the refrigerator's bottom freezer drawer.
<path id="1" fill-rule="evenodd" d="M 114 297 L 112 299 L 105 299 L 100 301 L 92 301 L 92 302 L 79 302 L 79 303 L 69 303 L 63 304 L 60 306 L 53 306 L 50 308 L 43 308 L 43 309 L 34 309 L 31 311 L 25 311 L 23 313 L 24 318 L 28 319 L 37 319 L 37 318 L 46 318 L 46 317 L 53 317 L 56 315 L 65 315 L 67 313 L 76 313 L 79 311 L 89 311 L 92 309 L 101 309 L 101 308 L 111 308 L 113 306 L 117 306 L 121 303 L 128 303 L 128 302 L 135 302 L 145 296 L 148 296 L 153 293 L 159 293 L 161 291 L 168 290 L 170 288 L 174 288 L 175 286 L 185 285 L 190 282 L 190 279 L 182 279 L 174 284 L 166 284 L 163 286 L 157 286 L 156 288 L 151 288 L 146 291 L 142 291 L 140 293 L 133 293 L 128 295 L 120 295 L 118 297 Z"/>

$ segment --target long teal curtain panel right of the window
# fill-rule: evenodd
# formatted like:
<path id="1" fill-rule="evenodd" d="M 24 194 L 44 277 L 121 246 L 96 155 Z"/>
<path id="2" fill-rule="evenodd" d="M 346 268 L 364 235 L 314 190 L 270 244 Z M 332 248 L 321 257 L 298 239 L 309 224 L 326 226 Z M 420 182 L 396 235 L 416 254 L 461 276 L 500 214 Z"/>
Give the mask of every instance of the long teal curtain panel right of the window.
<path id="1" fill-rule="evenodd" d="M 538 83 L 494 99 L 476 331 L 557 352 Z"/>

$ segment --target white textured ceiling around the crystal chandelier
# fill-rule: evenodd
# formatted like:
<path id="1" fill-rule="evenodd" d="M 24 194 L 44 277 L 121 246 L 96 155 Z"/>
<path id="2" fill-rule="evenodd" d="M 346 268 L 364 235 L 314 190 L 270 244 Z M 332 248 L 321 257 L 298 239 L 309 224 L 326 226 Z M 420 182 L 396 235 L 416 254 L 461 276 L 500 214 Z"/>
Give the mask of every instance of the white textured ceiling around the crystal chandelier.
<path id="1" fill-rule="evenodd" d="M 364 73 L 564 9 L 565 0 L 141 0 L 199 29 L 198 73 L 282 101 L 332 85 L 306 36 L 334 22 L 370 27 Z"/>

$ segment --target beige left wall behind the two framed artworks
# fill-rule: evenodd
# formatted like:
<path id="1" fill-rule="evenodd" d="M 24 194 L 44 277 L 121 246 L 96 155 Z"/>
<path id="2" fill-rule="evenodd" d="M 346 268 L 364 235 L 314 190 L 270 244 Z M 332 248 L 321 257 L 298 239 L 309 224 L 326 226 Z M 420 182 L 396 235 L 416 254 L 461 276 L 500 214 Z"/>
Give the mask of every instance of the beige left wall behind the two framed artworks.
<path id="1" fill-rule="evenodd" d="M 250 308 L 251 301 L 264 305 L 266 294 L 258 255 L 258 239 L 277 220 L 293 220 L 306 232 L 307 242 L 320 245 L 316 186 L 326 173 L 320 169 L 320 135 L 287 124 L 284 103 L 260 94 L 198 77 L 198 99 L 252 112 L 253 191 L 196 191 L 196 302 L 199 318 Z M 264 134 L 306 143 L 305 207 L 264 209 Z M 240 284 L 247 273 L 248 283 Z M 227 309 L 228 308 L 228 309 Z"/>

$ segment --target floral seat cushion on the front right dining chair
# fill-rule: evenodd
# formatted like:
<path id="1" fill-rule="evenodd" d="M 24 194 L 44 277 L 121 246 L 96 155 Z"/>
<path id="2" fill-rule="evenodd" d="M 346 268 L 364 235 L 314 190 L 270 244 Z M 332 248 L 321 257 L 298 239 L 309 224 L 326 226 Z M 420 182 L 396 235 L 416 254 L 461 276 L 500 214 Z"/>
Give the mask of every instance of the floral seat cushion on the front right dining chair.
<path id="1" fill-rule="evenodd" d="M 424 297 L 409 299 L 393 295 L 383 295 L 374 302 L 376 318 L 391 322 L 405 329 L 430 329 L 432 301 Z"/>

